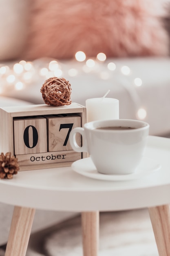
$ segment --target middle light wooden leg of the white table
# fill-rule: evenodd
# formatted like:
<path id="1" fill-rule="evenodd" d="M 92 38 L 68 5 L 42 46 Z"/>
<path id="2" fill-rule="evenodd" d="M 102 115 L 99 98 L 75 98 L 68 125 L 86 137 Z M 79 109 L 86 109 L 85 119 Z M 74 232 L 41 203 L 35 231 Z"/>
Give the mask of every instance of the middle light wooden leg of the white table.
<path id="1" fill-rule="evenodd" d="M 83 255 L 97 256 L 99 246 L 99 212 L 82 212 Z"/>

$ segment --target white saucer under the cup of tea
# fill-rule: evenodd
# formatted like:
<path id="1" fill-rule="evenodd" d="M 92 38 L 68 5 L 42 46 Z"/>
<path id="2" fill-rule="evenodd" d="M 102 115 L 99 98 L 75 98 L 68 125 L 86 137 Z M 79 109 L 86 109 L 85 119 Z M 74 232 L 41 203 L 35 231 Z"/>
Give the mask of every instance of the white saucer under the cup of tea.
<path id="1" fill-rule="evenodd" d="M 91 157 L 79 159 L 75 161 L 71 165 L 73 171 L 84 175 L 86 177 L 90 177 L 92 179 L 97 180 L 112 180 L 112 181 L 120 181 L 120 180 L 134 180 L 155 171 L 158 171 L 161 168 L 161 164 L 157 163 L 155 160 L 144 157 L 137 168 L 135 173 L 124 174 L 124 175 L 107 175 L 98 173 L 95 165 L 93 164 Z"/>

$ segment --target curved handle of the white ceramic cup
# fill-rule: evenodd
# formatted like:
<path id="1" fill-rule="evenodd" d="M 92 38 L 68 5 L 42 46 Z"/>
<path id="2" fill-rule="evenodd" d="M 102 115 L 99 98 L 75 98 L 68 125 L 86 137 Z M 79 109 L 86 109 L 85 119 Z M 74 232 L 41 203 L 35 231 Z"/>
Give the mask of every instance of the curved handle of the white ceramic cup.
<path id="1" fill-rule="evenodd" d="M 76 142 L 76 139 L 75 139 L 75 136 L 76 136 L 76 133 L 77 133 L 77 132 L 82 135 L 83 146 L 81 146 L 81 147 L 78 146 L 78 144 L 77 144 L 77 142 Z M 85 132 L 84 132 L 84 128 L 82 128 L 82 127 L 76 127 L 76 128 L 74 128 L 74 129 L 70 132 L 69 141 L 70 141 L 71 147 L 72 147 L 73 150 L 75 150 L 76 152 L 87 152 L 87 143 L 86 143 L 86 135 L 85 135 Z"/>

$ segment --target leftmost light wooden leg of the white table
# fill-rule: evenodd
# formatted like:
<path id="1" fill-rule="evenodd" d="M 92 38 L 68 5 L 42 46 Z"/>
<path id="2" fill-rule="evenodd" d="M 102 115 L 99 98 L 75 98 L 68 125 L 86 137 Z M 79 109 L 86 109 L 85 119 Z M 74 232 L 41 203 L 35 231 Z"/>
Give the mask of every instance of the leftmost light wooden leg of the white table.
<path id="1" fill-rule="evenodd" d="M 35 209 L 15 206 L 5 256 L 25 256 Z"/>

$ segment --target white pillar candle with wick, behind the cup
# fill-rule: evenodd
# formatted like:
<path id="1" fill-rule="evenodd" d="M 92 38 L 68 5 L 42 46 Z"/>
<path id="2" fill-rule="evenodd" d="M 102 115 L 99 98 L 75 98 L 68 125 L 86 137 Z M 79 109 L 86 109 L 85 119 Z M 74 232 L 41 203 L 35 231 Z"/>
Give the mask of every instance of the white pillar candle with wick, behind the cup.
<path id="1" fill-rule="evenodd" d="M 87 122 L 119 119 L 119 100 L 113 98 L 93 98 L 86 100 Z"/>

